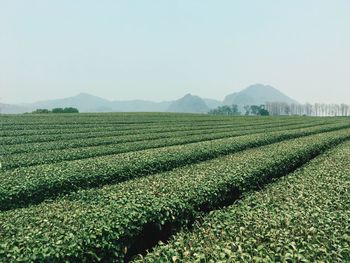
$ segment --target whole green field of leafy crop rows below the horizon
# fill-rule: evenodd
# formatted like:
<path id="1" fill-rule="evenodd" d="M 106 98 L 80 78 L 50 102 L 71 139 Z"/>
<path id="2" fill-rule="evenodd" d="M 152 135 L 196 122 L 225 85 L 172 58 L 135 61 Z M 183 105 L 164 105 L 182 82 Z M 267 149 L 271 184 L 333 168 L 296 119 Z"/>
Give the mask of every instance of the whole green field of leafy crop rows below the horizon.
<path id="1" fill-rule="evenodd" d="M 0 115 L 0 262 L 350 261 L 350 119 Z"/>

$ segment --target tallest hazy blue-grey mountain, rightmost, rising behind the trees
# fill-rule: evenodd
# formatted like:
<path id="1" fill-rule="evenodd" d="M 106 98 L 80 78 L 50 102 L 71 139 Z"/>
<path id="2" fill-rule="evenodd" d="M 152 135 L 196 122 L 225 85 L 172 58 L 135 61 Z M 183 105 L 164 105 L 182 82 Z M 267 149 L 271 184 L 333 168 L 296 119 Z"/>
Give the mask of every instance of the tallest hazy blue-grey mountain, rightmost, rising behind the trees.
<path id="1" fill-rule="evenodd" d="M 223 105 L 261 105 L 265 104 L 266 102 L 286 102 L 289 104 L 298 104 L 297 101 L 291 99 L 274 87 L 255 84 L 240 92 L 227 95 L 223 101 Z"/>

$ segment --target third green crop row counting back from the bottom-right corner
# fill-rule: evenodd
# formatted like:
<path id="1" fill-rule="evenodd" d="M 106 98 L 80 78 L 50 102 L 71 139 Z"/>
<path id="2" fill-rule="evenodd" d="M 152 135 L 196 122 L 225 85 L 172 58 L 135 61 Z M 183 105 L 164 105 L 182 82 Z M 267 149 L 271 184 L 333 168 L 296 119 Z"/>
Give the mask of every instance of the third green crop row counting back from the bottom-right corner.
<path id="1" fill-rule="evenodd" d="M 349 125 L 267 132 L 3 171 L 0 173 L 0 210 L 26 206 L 81 188 L 171 170 L 251 147 L 345 127 Z"/>

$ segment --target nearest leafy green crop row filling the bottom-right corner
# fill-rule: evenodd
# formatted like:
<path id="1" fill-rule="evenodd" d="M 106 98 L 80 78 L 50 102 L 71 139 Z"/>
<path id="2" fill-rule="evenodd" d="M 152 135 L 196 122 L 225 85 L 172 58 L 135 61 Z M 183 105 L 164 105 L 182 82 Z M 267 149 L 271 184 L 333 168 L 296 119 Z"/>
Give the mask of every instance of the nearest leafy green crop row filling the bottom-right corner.
<path id="1" fill-rule="evenodd" d="M 138 262 L 349 262 L 350 143 Z"/>

